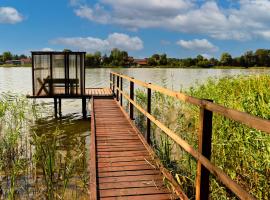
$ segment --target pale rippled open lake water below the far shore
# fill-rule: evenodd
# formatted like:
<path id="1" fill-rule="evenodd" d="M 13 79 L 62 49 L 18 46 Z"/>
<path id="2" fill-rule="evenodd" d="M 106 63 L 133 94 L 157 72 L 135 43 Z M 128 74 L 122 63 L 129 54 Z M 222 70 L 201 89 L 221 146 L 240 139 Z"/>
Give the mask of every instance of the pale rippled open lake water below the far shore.
<path id="1" fill-rule="evenodd" d="M 125 69 L 86 69 L 86 87 L 109 87 L 111 71 L 126 74 L 141 81 L 155 83 L 173 90 L 187 88 L 203 83 L 209 77 L 224 77 L 250 74 L 270 74 L 270 69 L 160 69 L 160 68 L 125 68 Z M 12 91 L 31 94 L 32 73 L 28 67 L 0 68 L 0 93 Z M 38 100 L 52 105 L 52 100 Z M 80 100 L 63 100 L 63 115 L 81 116 Z"/>

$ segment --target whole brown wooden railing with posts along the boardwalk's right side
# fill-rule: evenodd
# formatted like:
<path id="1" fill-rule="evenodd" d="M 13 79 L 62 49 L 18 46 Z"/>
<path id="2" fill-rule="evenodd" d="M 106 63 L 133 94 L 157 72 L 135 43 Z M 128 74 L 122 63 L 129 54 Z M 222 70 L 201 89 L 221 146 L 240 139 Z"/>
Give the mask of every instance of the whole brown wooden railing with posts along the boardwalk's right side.
<path id="1" fill-rule="evenodd" d="M 129 82 L 130 92 L 129 95 L 123 91 L 123 80 Z M 147 89 L 147 110 L 144 110 L 134 100 L 134 84 L 142 86 Z M 210 100 L 198 99 L 185 95 L 180 92 L 175 92 L 160 86 L 145 83 L 129 76 L 110 73 L 110 88 L 116 95 L 116 100 L 120 101 L 120 105 L 123 105 L 123 97 L 129 102 L 129 114 L 130 119 L 134 119 L 134 107 L 139 110 L 143 115 L 147 117 L 147 131 L 146 140 L 150 142 L 150 128 L 151 123 L 154 123 L 164 133 L 166 133 L 174 142 L 176 142 L 182 149 L 192 155 L 197 162 L 197 174 L 196 174 L 196 199 L 208 199 L 209 197 L 209 174 L 212 173 L 217 179 L 219 179 L 228 189 L 230 189 L 240 199 L 255 199 L 247 191 L 245 191 L 239 184 L 233 181 L 225 172 L 219 167 L 210 162 L 211 157 L 211 138 L 212 138 L 212 116 L 213 113 L 225 116 L 229 119 L 243 123 L 250 128 L 255 128 L 260 131 L 270 133 L 270 121 L 265 120 L 250 114 L 237 111 L 234 109 L 226 108 L 224 106 L 215 104 Z M 196 105 L 200 107 L 200 119 L 199 119 L 199 131 L 198 140 L 199 148 L 195 150 L 190 144 L 183 140 L 179 135 L 167 128 L 153 115 L 151 115 L 151 92 L 156 91 L 162 94 L 175 97 L 186 103 Z"/>

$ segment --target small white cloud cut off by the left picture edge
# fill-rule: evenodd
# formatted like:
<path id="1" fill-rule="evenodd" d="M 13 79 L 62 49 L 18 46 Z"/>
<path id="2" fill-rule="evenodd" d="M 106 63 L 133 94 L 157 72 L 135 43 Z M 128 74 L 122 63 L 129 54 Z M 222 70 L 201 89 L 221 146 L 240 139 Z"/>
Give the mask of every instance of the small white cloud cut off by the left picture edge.
<path id="1" fill-rule="evenodd" d="M 16 24 L 23 20 L 23 16 L 12 7 L 0 7 L 0 24 Z"/>

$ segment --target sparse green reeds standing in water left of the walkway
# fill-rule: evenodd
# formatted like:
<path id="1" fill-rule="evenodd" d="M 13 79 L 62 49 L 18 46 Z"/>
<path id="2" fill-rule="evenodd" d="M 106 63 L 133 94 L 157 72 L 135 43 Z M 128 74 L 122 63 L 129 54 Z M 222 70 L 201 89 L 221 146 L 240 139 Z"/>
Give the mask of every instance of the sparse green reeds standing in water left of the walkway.
<path id="1" fill-rule="evenodd" d="M 0 94 L 0 199 L 88 198 L 89 128 L 44 113 L 23 96 Z M 71 125 L 80 127 L 76 134 L 66 130 Z"/>

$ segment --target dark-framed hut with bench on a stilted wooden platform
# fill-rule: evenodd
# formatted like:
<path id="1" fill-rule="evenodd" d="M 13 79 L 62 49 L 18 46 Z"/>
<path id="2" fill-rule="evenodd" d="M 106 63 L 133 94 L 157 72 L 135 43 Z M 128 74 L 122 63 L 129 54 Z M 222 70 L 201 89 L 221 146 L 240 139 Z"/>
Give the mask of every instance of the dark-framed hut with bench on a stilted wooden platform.
<path id="1" fill-rule="evenodd" d="M 61 116 L 61 99 L 82 99 L 86 118 L 87 98 L 113 95 L 109 88 L 85 87 L 85 52 L 32 51 L 32 86 L 28 98 L 53 98 L 56 117 Z"/>

